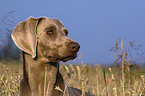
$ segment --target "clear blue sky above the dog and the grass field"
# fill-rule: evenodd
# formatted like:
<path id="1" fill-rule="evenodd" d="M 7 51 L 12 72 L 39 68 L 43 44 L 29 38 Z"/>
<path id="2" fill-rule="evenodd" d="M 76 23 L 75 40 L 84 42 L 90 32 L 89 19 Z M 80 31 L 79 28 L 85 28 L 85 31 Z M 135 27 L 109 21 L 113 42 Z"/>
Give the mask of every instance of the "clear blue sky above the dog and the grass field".
<path id="1" fill-rule="evenodd" d="M 9 11 L 14 26 L 30 16 L 58 18 L 80 44 L 80 62 L 112 64 L 109 50 L 120 37 L 126 48 L 136 41 L 145 51 L 145 0 L 2 0 L 0 18 Z"/>

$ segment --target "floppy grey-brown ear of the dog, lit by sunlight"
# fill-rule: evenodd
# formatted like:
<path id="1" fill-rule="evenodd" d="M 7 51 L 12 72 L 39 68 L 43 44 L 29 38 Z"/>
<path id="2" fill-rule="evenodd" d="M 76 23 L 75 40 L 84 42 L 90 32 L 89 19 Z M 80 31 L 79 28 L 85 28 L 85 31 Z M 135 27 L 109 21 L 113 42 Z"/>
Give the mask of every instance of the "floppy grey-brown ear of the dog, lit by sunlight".
<path id="1" fill-rule="evenodd" d="M 18 48 L 36 57 L 37 35 L 36 29 L 39 20 L 42 18 L 30 17 L 23 22 L 18 23 L 14 28 L 11 37 Z"/>

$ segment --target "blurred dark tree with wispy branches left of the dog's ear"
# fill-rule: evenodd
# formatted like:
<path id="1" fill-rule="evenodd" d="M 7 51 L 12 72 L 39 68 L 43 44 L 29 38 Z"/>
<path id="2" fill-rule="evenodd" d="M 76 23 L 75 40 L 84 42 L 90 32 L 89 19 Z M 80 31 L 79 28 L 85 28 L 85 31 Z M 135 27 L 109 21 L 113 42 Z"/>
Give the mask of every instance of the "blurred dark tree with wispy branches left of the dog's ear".
<path id="1" fill-rule="evenodd" d="M 19 59 L 20 50 L 14 45 L 11 39 L 12 29 L 15 25 L 13 22 L 14 11 L 9 11 L 1 17 L 0 26 L 0 59 Z M 3 28 L 1 28 L 3 27 Z"/>

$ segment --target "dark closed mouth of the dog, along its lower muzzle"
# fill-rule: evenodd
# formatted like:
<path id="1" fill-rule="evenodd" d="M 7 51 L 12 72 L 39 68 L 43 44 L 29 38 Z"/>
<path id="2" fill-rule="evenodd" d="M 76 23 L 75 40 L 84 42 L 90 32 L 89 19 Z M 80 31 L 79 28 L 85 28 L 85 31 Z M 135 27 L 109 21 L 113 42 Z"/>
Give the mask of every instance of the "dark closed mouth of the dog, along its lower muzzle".
<path id="1" fill-rule="evenodd" d="M 70 56 L 66 56 L 66 57 L 62 57 L 62 58 L 49 56 L 48 58 L 53 62 L 59 62 L 59 61 L 66 62 L 68 60 L 75 59 L 76 57 L 77 57 L 77 55 L 70 55 Z"/>

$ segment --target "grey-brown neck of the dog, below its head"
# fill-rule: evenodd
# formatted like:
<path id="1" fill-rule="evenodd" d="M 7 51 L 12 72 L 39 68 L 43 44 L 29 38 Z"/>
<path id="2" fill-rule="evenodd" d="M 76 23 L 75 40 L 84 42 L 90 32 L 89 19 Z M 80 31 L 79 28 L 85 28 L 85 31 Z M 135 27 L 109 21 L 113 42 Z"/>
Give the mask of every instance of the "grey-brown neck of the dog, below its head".
<path id="1" fill-rule="evenodd" d="M 44 62 L 42 58 L 33 59 L 23 52 L 23 79 L 28 82 L 32 96 L 61 96 L 59 86 L 64 91 L 64 80 L 59 72 L 58 62 Z"/>

